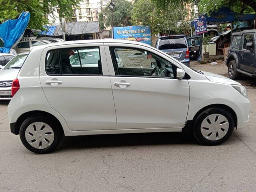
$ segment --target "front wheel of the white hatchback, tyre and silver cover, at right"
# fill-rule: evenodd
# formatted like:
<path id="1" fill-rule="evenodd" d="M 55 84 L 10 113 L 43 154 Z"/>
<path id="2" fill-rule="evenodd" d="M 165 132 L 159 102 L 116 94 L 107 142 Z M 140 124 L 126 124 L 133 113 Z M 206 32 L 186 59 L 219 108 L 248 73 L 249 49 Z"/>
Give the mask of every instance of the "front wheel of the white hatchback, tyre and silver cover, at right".
<path id="1" fill-rule="evenodd" d="M 209 108 L 194 122 L 194 136 L 204 145 L 218 145 L 226 141 L 234 130 L 234 117 L 221 108 Z"/>

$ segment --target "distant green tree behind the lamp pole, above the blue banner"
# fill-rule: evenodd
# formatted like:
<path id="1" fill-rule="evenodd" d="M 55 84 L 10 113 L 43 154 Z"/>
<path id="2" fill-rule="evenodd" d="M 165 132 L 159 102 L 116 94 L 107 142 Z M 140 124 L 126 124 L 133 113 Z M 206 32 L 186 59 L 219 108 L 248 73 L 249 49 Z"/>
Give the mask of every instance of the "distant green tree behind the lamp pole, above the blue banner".
<path id="1" fill-rule="evenodd" d="M 126 0 L 115 0 L 115 7 L 113 11 L 114 26 L 130 26 L 131 21 L 131 10 L 133 5 Z M 106 6 L 102 10 L 103 20 L 106 27 L 111 26 L 112 21 L 112 10 Z"/>

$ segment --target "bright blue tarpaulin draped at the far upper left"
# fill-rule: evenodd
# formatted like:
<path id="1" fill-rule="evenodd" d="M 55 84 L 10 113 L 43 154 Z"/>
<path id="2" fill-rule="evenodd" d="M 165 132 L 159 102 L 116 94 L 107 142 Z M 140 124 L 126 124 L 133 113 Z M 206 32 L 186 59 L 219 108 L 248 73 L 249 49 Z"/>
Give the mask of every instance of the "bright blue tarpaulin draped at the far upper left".
<path id="1" fill-rule="evenodd" d="M 30 18 L 29 12 L 22 12 L 18 19 L 7 20 L 0 24 L 0 38 L 4 42 L 4 47 L 0 48 L 1 53 L 9 53 L 23 36 Z"/>

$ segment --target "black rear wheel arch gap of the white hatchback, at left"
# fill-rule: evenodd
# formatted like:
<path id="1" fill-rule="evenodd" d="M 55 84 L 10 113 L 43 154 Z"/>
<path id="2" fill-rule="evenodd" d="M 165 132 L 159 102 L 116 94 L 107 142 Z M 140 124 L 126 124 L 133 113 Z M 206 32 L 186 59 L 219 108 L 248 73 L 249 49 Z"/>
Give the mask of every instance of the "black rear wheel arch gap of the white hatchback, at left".
<path id="1" fill-rule="evenodd" d="M 47 116 L 49 118 L 52 118 L 55 122 L 57 122 L 61 128 L 62 134 L 64 134 L 64 130 L 62 127 L 62 124 L 60 123 L 60 121 L 58 120 L 58 118 L 56 118 L 54 115 L 45 112 L 45 111 L 40 111 L 40 110 L 34 110 L 34 111 L 29 111 L 29 112 L 25 112 L 22 115 L 20 115 L 16 121 L 16 131 L 20 132 L 20 126 L 21 124 L 24 122 L 24 120 L 26 120 L 26 118 L 30 117 L 30 116 L 36 116 L 36 115 L 43 115 L 43 116 Z"/>

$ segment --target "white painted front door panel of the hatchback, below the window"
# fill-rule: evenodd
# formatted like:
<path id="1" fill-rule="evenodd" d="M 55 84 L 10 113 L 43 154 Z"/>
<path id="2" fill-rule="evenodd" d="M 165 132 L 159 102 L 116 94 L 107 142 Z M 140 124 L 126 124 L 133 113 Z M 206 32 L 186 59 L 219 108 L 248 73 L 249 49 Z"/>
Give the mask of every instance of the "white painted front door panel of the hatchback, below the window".
<path id="1" fill-rule="evenodd" d="M 187 80 L 110 77 L 118 129 L 182 127 L 189 102 Z M 118 86 L 126 82 L 130 86 Z"/>

